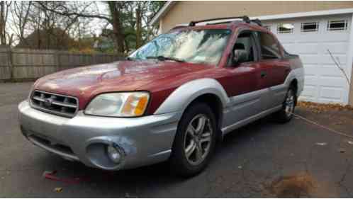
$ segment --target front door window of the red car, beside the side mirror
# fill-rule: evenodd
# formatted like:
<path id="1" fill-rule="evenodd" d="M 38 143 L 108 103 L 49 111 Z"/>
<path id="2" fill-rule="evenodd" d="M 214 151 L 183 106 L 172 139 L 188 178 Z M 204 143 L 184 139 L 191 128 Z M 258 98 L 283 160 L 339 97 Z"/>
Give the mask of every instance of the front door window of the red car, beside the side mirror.
<path id="1" fill-rule="evenodd" d="M 254 62 L 255 49 L 256 45 L 252 33 L 250 31 L 245 31 L 238 35 L 232 52 L 235 52 L 235 50 L 242 50 L 245 53 L 240 62 Z"/>

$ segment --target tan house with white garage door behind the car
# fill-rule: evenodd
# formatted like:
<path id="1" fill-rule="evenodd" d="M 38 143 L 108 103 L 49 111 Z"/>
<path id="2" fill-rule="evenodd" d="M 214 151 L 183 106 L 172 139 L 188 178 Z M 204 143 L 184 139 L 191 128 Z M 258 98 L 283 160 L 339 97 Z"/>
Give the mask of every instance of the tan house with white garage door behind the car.
<path id="1" fill-rule="evenodd" d="M 259 18 L 285 49 L 301 56 L 306 82 L 301 99 L 353 105 L 353 1 L 168 1 L 152 18 L 160 33 L 205 18 Z M 337 69 L 327 52 L 338 57 Z M 350 90 L 350 96 L 349 96 Z"/>

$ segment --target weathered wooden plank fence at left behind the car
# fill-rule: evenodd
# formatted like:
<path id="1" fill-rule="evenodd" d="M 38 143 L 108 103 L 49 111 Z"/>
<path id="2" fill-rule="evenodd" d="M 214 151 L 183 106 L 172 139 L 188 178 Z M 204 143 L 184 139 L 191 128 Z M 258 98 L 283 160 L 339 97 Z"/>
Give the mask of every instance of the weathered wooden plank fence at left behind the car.
<path id="1" fill-rule="evenodd" d="M 111 54 L 0 47 L 0 81 L 38 79 L 63 69 L 121 60 Z"/>

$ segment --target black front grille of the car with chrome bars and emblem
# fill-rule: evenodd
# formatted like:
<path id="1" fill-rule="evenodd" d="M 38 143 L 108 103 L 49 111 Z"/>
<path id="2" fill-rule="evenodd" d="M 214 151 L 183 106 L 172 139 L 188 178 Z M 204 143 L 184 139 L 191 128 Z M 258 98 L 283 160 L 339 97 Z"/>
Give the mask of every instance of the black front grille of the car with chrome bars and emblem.
<path id="1" fill-rule="evenodd" d="M 79 109 L 77 98 L 45 91 L 33 91 L 30 102 L 33 108 L 67 118 L 73 118 Z"/>

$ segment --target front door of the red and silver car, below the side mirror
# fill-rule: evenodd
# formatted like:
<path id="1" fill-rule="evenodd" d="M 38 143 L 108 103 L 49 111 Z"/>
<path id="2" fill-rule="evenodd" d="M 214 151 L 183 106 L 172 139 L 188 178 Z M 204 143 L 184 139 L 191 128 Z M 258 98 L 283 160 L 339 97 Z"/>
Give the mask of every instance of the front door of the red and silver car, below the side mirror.
<path id="1" fill-rule="evenodd" d="M 236 125 L 260 113 L 263 97 L 267 94 L 266 85 L 261 81 L 262 67 L 258 62 L 259 46 L 252 31 L 244 30 L 240 33 L 232 52 L 242 45 L 249 52 L 247 59 L 237 63 L 230 62 L 225 68 L 228 70 L 228 76 L 220 80 L 230 96 L 230 106 L 224 117 L 225 126 Z"/>

